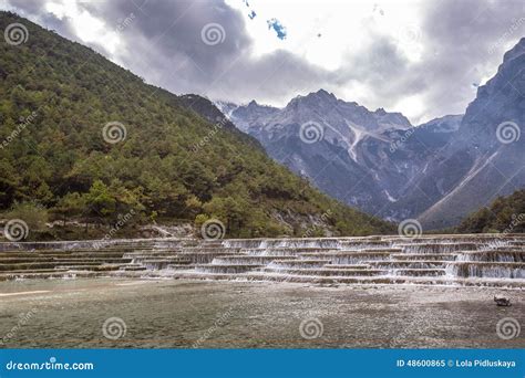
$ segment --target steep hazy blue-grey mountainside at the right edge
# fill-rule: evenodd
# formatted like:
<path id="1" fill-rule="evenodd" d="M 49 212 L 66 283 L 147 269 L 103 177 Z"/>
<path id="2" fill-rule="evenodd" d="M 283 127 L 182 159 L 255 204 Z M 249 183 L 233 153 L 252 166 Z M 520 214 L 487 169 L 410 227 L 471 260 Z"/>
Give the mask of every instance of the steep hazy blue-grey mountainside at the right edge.
<path id="1" fill-rule="evenodd" d="M 426 228 L 456 224 L 497 196 L 525 187 L 525 39 L 508 51 L 496 75 L 477 90 L 455 138 L 419 182 Z M 441 190 L 436 179 L 442 178 Z"/>

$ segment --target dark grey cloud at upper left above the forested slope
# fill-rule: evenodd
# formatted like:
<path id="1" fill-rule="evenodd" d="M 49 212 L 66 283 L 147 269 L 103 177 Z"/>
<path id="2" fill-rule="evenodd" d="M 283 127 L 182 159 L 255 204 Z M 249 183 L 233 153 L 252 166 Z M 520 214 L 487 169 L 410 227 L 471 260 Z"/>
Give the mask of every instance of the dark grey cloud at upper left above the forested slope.
<path id="1" fill-rule="evenodd" d="M 135 20 L 123 36 L 133 45 L 135 35 L 144 39 L 145 46 L 156 55 L 169 57 L 187 55 L 206 71 L 231 59 L 249 46 L 240 14 L 220 1 L 144 1 L 136 7 L 132 1 L 94 3 L 93 14 L 107 24 L 135 14 Z M 224 41 L 217 45 L 203 42 L 202 31 L 207 24 L 218 24 L 224 30 Z M 223 30 L 219 30 L 223 33 Z"/>

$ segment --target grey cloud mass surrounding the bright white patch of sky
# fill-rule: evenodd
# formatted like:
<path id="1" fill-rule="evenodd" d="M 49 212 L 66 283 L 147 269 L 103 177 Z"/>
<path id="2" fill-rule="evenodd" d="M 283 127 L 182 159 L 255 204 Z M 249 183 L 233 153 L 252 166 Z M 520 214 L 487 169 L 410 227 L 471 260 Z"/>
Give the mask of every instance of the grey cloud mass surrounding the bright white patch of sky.
<path id="1" fill-rule="evenodd" d="M 47 13 L 43 1 L 10 0 L 10 4 L 75 39 L 74 20 Z M 464 112 L 475 96 L 473 84 L 494 74 L 508 43 L 525 34 L 525 21 L 519 23 L 525 17 L 522 1 L 429 1 L 416 33 L 424 48 L 419 61 L 404 55 L 392 32 L 375 35 L 358 54 L 348 54 L 340 69 L 327 71 L 286 51 L 251 57 L 246 30 L 250 24 L 224 1 L 119 0 L 78 6 L 119 32 L 122 42 L 114 52 L 105 41 L 91 46 L 174 93 L 282 103 L 320 87 L 338 94 L 358 84 L 368 94 L 346 99 L 394 111 L 400 98 L 416 96 L 425 106 L 425 117 Z M 218 40 L 203 40 L 206 25 L 215 25 Z M 370 33 L 374 35 L 373 30 Z"/>

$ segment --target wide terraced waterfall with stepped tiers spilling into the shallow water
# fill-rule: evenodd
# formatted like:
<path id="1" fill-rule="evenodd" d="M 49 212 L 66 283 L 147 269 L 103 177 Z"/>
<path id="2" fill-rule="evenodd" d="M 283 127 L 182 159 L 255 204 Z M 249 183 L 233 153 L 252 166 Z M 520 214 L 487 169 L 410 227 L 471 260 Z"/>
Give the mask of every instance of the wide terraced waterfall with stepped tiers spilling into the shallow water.
<path id="1" fill-rule="evenodd" d="M 525 235 L 0 243 L 0 281 L 96 276 L 525 287 Z"/>

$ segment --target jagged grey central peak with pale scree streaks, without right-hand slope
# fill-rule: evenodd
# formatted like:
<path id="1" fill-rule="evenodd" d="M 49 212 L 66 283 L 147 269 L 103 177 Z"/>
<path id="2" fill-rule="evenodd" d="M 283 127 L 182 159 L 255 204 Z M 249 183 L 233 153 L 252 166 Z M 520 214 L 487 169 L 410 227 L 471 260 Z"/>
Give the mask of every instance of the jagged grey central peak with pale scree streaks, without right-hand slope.
<path id="1" fill-rule="evenodd" d="M 325 192 L 390 219 L 403 217 L 404 211 L 391 210 L 392 203 L 430 154 L 420 139 L 439 134 L 431 143 L 446 143 L 461 119 L 449 116 L 413 127 L 401 113 L 371 112 L 323 90 L 297 96 L 284 108 L 253 101 L 228 114 L 270 156 Z"/>

